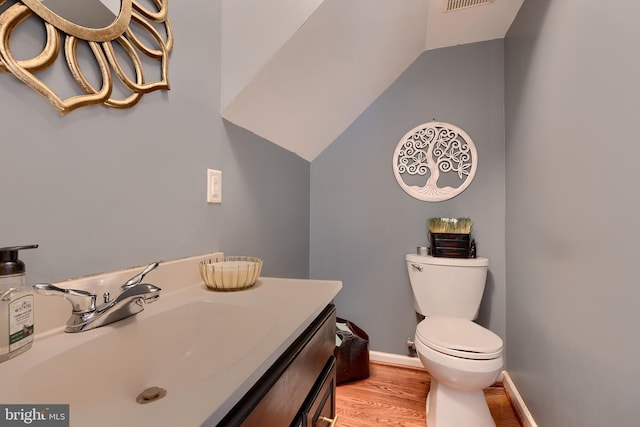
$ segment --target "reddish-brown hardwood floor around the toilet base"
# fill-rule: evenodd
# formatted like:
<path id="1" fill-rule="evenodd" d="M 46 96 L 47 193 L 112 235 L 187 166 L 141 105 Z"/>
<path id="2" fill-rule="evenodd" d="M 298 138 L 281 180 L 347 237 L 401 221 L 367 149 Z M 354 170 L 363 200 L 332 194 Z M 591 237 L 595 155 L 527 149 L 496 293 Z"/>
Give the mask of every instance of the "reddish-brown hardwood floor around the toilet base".
<path id="1" fill-rule="evenodd" d="M 337 426 L 425 427 L 431 382 L 426 370 L 371 362 L 369 373 L 365 380 L 338 386 Z M 485 396 L 497 427 L 521 427 L 503 387 L 491 387 Z"/>

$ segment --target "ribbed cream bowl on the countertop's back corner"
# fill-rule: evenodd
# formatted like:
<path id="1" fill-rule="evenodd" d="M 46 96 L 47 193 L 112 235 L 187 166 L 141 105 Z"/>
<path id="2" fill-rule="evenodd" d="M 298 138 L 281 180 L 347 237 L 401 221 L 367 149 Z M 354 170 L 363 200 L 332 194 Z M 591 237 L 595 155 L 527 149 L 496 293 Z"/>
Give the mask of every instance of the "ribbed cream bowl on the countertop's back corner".
<path id="1" fill-rule="evenodd" d="M 246 256 L 228 256 L 200 261 L 200 276 L 209 289 L 238 291 L 255 285 L 262 260 Z"/>

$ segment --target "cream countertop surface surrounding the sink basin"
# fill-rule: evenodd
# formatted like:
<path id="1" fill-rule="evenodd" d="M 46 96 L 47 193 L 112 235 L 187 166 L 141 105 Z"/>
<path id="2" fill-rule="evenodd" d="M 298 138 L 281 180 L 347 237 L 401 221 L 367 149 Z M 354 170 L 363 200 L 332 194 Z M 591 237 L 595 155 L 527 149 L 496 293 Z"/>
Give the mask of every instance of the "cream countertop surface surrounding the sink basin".
<path id="1" fill-rule="evenodd" d="M 135 320 L 125 320 L 129 322 L 125 326 L 107 325 L 75 334 L 66 334 L 58 328 L 44 336 L 36 336 L 30 350 L 14 359 L 0 363 L 0 379 L 2 381 L 0 402 L 3 404 L 69 403 L 57 401 L 53 397 L 52 401 L 29 401 L 27 395 L 21 392 L 23 386 L 20 383 L 24 382 L 25 376 L 29 374 L 33 377 L 34 366 L 46 363 L 56 356 L 65 357 L 66 354 L 69 354 L 65 352 L 75 346 L 85 345 L 87 347 L 87 344 L 92 346 L 93 340 L 100 339 L 107 334 L 112 334 L 110 337 L 113 339 L 117 337 L 113 334 L 124 334 L 127 333 L 127 330 L 135 328 L 136 321 L 152 324 L 154 316 L 158 314 L 196 301 L 208 301 L 225 304 L 225 307 L 239 306 L 251 309 L 254 313 L 260 313 L 254 314 L 251 322 L 260 323 L 259 320 L 256 320 L 260 317 L 256 316 L 264 315 L 264 318 L 268 319 L 269 326 L 257 325 L 264 327 L 264 333 L 261 333 L 259 342 L 248 351 L 243 350 L 244 354 L 234 355 L 233 362 L 225 366 L 224 369 L 205 373 L 201 378 L 198 377 L 197 380 L 190 382 L 187 389 L 169 389 L 166 397 L 146 405 L 137 404 L 135 396 L 131 399 L 129 397 L 123 399 L 124 403 L 120 401 L 114 403 L 117 399 L 113 401 L 105 399 L 109 401 L 104 402 L 98 411 L 71 403 L 70 421 L 71 426 L 74 427 L 89 425 L 92 427 L 113 425 L 215 426 L 322 310 L 332 302 L 341 287 L 342 283 L 339 281 L 259 278 L 254 287 L 238 292 L 210 291 L 201 282 L 169 292 L 163 291 L 157 302 L 146 306 L 143 312 L 129 318 Z M 67 308 L 67 315 L 69 313 L 70 307 Z M 118 323 L 113 325 L 118 325 Z M 233 324 L 199 324 L 198 319 L 193 319 L 193 323 L 194 336 L 196 337 L 206 337 L 207 331 L 215 330 L 215 328 L 234 327 Z M 246 330 L 248 325 L 242 326 Z M 228 346 L 230 344 L 221 342 L 219 345 Z M 230 349 L 226 347 L 225 351 L 228 352 Z M 60 369 L 67 369 L 64 374 L 68 376 L 90 376 L 94 369 L 118 370 L 117 363 L 121 362 L 114 362 L 115 366 L 109 366 L 111 364 L 109 361 L 102 363 L 107 366 L 94 366 L 93 360 L 87 360 L 84 366 L 75 366 L 73 369 L 61 366 Z M 60 373 L 57 374 L 58 376 L 54 378 L 59 381 Z M 46 373 L 43 376 L 46 377 Z M 47 378 L 42 378 L 42 381 L 46 382 Z M 93 383 L 89 382 L 89 384 Z M 60 387 L 64 386 L 65 384 L 60 385 Z M 100 384 L 94 386 L 101 387 Z M 49 387 L 52 387 L 51 384 Z M 86 390 L 86 393 L 91 392 L 92 390 Z M 114 405 L 116 407 L 112 407 Z"/>

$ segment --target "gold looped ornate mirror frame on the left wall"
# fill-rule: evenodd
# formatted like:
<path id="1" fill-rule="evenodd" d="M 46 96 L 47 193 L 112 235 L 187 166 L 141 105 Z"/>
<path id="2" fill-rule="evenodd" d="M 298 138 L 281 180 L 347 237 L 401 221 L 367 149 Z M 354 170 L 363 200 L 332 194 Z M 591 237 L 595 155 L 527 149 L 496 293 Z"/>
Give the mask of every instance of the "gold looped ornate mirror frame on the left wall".
<path id="1" fill-rule="evenodd" d="M 120 0 L 118 16 L 104 28 L 88 28 L 68 21 L 45 6 L 41 0 L 9 0 L 11 1 L 14 1 L 14 4 L 10 4 L 0 14 L 0 71 L 12 73 L 44 96 L 61 115 L 76 108 L 94 104 L 104 104 L 112 108 L 131 108 L 145 93 L 169 90 L 167 72 L 169 53 L 173 46 L 173 33 L 168 19 L 168 0 L 147 0 L 149 6 L 153 2 L 156 9 L 145 7 L 136 0 Z M 0 0 L 0 6 L 6 2 L 7 0 Z M 20 24 L 34 15 L 41 18 L 45 27 L 44 47 L 42 52 L 34 58 L 17 60 L 11 51 L 11 36 Z M 132 24 L 136 24 L 135 33 Z M 164 30 L 159 32 L 157 28 L 164 28 Z M 139 32 L 143 32 L 143 37 L 140 37 Z M 148 46 L 147 39 L 154 40 L 156 46 Z M 100 88 L 95 88 L 89 82 L 80 67 L 77 53 L 79 42 L 88 43 L 93 53 L 102 78 Z M 121 64 L 122 55 L 116 55 L 114 43 L 119 44 L 128 55 L 130 64 Z M 63 46 L 69 72 L 79 86 L 78 95 L 65 99 L 60 98 L 35 75 L 56 61 Z M 145 66 L 140 54 L 144 55 L 143 58 L 146 57 Z M 144 71 L 149 62 L 159 67 L 157 81 L 149 82 L 145 79 Z M 133 70 L 132 74 L 135 76 L 127 75 L 125 68 Z M 112 98 L 114 73 L 123 87 L 130 91 L 128 96 L 120 99 Z"/>

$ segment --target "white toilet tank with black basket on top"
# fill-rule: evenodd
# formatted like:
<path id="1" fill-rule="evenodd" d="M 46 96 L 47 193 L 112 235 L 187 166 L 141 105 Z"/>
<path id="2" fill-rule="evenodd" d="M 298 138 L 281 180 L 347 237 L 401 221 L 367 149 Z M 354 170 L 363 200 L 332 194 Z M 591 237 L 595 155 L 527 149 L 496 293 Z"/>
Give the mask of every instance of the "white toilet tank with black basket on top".
<path id="1" fill-rule="evenodd" d="M 408 254 L 409 280 L 415 309 L 474 320 L 487 281 L 488 258 L 440 258 Z"/>

